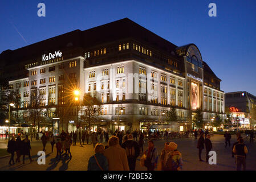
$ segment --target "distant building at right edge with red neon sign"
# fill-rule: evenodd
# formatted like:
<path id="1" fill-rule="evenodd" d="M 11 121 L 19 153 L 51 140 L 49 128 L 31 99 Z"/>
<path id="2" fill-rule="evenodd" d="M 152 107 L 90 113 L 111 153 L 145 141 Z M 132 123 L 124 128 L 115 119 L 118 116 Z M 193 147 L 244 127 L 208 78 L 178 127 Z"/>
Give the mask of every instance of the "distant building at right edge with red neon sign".
<path id="1" fill-rule="evenodd" d="M 225 93 L 226 112 L 231 113 L 233 123 L 238 120 L 241 127 L 249 128 L 256 122 L 256 97 L 248 92 Z"/>

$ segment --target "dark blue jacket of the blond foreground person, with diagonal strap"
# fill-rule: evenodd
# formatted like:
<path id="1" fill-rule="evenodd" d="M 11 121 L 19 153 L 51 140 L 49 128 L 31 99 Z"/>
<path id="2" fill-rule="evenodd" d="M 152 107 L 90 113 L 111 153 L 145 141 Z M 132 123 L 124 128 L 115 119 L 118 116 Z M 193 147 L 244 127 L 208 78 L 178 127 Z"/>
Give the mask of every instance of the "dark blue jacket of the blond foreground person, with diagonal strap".
<path id="1" fill-rule="evenodd" d="M 100 153 L 96 153 L 95 157 L 97 159 L 97 162 L 99 163 L 100 167 L 103 169 L 103 171 L 108 171 L 108 160 L 107 158 Z M 88 171 L 101 171 L 100 167 L 97 165 L 97 162 L 95 160 L 94 155 L 91 156 L 88 162 Z"/>

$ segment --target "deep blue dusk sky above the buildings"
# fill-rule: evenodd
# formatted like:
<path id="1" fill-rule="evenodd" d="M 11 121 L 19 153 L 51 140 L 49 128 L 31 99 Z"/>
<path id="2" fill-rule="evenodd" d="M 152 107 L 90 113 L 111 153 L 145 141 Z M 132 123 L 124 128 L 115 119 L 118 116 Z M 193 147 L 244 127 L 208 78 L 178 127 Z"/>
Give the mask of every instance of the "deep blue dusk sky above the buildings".
<path id="1" fill-rule="evenodd" d="M 46 5 L 39 17 L 38 3 Z M 209 3 L 217 17 L 209 17 Z M 194 43 L 224 92 L 256 96 L 256 1 L 0 1 L 0 53 L 129 18 L 182 46 Z"/>

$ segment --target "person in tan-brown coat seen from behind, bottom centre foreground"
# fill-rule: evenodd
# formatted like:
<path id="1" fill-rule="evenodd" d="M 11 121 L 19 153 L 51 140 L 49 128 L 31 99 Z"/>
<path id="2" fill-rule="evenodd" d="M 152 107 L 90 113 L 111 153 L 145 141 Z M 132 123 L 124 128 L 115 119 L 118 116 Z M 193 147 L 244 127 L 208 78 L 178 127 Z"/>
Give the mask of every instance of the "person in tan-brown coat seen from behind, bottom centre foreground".
<path id="1" fill-rule="evenodd" d="M 124 148 L 119 145 L 119 138 L 109 138 L 108 146 L 104 150 L 104 156 L 108 159 L 109 171 L 129 171 L 127 155 Z"/>

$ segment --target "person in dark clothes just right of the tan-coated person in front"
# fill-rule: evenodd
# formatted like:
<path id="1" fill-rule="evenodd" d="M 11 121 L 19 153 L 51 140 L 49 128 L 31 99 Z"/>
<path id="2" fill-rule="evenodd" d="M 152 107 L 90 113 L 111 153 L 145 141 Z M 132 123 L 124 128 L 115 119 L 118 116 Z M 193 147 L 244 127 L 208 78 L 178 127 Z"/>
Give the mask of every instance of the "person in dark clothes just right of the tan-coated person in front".
<path id="1" fill-rule="evenodd" d="M 121 147 L 125 149 L 130 171 L 135 171 L 136 159 L 140 155 L 139 144 L 134 141 L 132 135 L 129 134 L 127 141 L 125 141 Z"/>

